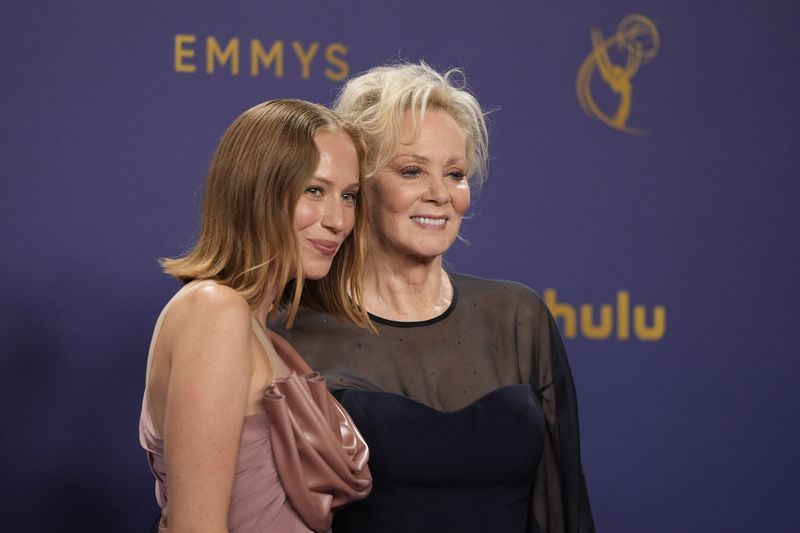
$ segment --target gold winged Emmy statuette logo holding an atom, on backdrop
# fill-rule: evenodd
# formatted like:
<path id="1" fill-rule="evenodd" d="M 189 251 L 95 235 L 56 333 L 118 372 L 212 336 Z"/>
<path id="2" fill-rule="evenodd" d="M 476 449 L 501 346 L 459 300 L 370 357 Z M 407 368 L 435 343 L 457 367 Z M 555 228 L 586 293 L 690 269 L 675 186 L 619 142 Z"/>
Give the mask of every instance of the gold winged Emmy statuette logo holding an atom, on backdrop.
<path id="1" fill-rule="evenodd" d="M 644 15 L 628 15 L 617 25 L 617 32 L 603 37 L 598 28 L 592 28 L 592 51 L 578 69 L 576 90 L 583 111 L 615 130 L 634 135 L 647 131 L 628 125 L 633 103 L 633 80 L 639 67 L 649 63 L 658 54 L 660 37 L 652 20 Z M 619 59 L 619 63 L 612 60 Z M 617 58 L 616 56 L 621 56 Z M 616 96 L 615 111 L 604 111 L 592 94 L 592 80 L 599 72 L 603 82 Z"/>

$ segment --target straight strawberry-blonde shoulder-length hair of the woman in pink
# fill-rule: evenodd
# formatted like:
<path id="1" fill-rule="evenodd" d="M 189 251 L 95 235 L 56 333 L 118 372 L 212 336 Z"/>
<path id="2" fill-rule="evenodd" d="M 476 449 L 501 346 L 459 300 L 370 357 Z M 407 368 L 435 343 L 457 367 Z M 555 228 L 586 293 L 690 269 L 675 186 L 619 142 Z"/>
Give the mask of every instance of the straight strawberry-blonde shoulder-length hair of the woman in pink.
<path id="1" fill-rule="evenodd" d="M 355 226 L 329 274 L 304 283 L 294 210 L 319 163 L 314 136 L 321 132 L 343 132 L 352 139 L 362 187 Z M 365 161 L 366 144 L 358 129 L 326 107 L 271 100 L 248 109 L 228 127 L 214 153 L 196 243 L 182 257 L 161 259 L 164 271 L 183 282 L 211 279 L 227 285 L 251 306 L 276 290 L 272 316 L 277 317 L 281 304 L 287 306 L 287 327 L 301 299 L 370 327 L 361 284 L 367 252 Z"/>

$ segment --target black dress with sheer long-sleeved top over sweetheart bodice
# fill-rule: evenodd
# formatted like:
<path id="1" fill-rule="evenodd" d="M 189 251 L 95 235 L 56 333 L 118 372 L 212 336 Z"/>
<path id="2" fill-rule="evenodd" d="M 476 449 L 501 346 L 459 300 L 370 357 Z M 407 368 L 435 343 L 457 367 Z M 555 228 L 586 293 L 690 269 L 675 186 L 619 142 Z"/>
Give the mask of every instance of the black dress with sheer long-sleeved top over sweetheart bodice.
<path id="1" fill-rule="evenodd" d="M 273 326 L 370 446 L 373 491 L 334 533 L 593 532 L 555 322 L 523 285 L 450 277 L 447 311 L 378 335 L 306 308 Z"/>

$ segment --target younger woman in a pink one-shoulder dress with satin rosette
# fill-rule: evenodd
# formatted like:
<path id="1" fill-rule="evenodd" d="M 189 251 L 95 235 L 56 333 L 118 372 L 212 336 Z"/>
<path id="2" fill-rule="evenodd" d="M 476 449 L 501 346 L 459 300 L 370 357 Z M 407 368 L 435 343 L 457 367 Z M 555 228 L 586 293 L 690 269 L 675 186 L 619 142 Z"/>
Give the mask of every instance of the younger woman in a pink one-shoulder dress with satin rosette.
<path id="1" fill-rule="evenodd" d="M 301 298 L 370 327 L 360 283 L 364 156 L 357 129 L 299 100 L 249 109 L 221 139 L 197 242 L 162 260 L 185 285 L 153 333 L 140 422 L 161 532 L 325 531 L 333 510 L 369 492 L 366 451 L 349 420 L 341 434 L 325 434 L 332 451 L 304 443 L 324 486 L 297 475 L 305 456 L 287 449 L 294 435 L 276 433 L 286 417 L 268 414 L 288 401 L 275 387 L 308 368 L 266 329 L 281 305 L 291 325 Z"/>

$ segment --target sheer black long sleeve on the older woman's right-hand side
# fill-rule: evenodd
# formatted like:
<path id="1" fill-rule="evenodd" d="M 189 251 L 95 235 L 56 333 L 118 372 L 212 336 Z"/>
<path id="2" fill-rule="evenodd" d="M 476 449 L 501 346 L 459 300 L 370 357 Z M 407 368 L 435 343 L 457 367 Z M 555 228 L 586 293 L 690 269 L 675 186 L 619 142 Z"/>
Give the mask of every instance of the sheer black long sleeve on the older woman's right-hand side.
<path id="1" fill-rule="evenodd" d="M 581 466 L 575 385 L 555 320 L 546 308 L 542 311 L 537 313 L 530 381 L 539 397 L 547 431 L 528 529 L 591 533 L 595 527 Z"/>

